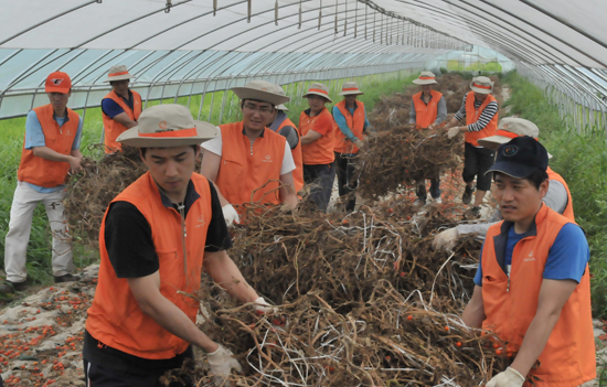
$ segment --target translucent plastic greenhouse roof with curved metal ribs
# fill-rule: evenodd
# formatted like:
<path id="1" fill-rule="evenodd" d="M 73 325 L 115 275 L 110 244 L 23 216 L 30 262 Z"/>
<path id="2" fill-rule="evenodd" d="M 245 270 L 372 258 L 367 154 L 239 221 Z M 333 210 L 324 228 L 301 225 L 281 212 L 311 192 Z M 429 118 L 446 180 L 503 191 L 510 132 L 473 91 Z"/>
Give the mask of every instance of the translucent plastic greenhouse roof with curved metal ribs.
<path id="1" fill-rule="evenodd" d="M 81 106 L 89 106 L 88 94 L 107 89 L 103 78 L 114 64 L 129 66 L 135 86 L 147 87 L 149 98 L 171 95 L 153 87 L 175 83 L 180 86 L 173 94 L 181 95 L 184 84 L 192 83 L 188 93 L 204 93 L 220 87 L 220 78 L 298 72 L 327 78 L 334 76 L 330 71 L 348 68 L 356 71 L 347 75 L 358 76 L 412 67 L 413 62 L 423 67 L 434 57 L 470 51 L 472 45 L 494 50 L 539 76 L 573 68 L 567 72 L 574 77 L 607 80 L 605 0 L 0 0 L 0 117 L 36 105 L 23 96 L 43 92 L 44 77 L 56 69 L 67 72 L 76 89 L 86 90 Z M 216 85 L 201 90 L 196 82 L 209 79 Z M 302 78 L 278 82 L 298 79 Z M 20 104 L 24 107 L 17 108 Z"/>

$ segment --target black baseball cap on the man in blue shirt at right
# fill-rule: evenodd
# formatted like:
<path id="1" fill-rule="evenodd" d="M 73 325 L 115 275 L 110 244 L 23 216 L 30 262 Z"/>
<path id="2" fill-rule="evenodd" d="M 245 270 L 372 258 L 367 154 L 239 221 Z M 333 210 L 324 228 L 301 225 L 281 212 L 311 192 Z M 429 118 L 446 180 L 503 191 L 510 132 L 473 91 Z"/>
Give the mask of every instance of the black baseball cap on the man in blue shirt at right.
<path id="1" fill-rule="evenodd" d="M 496 163 L 489 172 L 501 172 L 514 179 L 524 179 L 535 171 L 546 171 L 549 152 L 533 137 L 522 136 L 502 143 Z"/>

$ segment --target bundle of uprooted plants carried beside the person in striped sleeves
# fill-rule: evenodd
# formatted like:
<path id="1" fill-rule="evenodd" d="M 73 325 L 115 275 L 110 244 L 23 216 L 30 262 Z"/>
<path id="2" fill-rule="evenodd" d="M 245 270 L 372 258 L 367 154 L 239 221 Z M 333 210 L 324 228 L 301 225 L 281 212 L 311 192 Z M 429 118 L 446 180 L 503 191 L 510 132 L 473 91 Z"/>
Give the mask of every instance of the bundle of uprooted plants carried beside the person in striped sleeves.
<path id="1" fill-rule="evenodd" d="M 380 130 L 368 136 L 355 159 L 363 197 L 377 198 L 461 166 L 461 135 L 449 139 L 441 129 L 434 133 L 409 125 L 373 125 Z"/>

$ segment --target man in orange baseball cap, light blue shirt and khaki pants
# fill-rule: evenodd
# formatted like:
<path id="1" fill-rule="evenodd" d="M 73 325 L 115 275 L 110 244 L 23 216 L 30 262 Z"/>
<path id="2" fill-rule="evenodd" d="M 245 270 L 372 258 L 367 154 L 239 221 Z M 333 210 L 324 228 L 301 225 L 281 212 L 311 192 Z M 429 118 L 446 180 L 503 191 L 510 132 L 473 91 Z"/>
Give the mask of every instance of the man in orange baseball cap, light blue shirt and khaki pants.
<path id="1" fill-rule="evenodd" d="M 63 197 L 70 173 L 82 170 L 82 118 L 67 107 L 72 80 L 62 72 L 46 77 L 44 90 L 50 104 L 34 108 L 25 120 L 17 189 L 12 198 L 9 232 L 4 241 L 7 280 L 0 293 L 25 290 L 25 257 L 35 207 L 42 203 L 53 233 L 52 266 L 55 283 L 77 279 L 71 237 L 67 235 Z"/>

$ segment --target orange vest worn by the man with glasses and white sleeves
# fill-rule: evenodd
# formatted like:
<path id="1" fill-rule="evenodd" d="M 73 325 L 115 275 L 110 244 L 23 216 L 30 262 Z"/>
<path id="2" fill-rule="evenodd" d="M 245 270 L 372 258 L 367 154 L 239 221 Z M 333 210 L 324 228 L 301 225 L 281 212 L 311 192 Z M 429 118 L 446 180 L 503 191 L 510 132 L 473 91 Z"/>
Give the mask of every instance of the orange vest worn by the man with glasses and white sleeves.
<path id="1" fill-rule="evenodd" d="M 287 139 L 266 128 L 252 147 L 242 121 L 220 125 L 220 129 L 223 147 L 215 184 L 222 195 L 232 204 L 279 204 L 278 180 Z"/>

